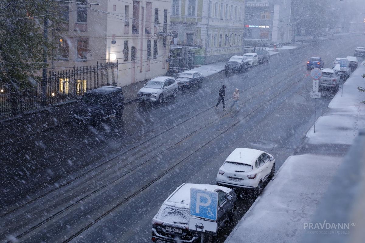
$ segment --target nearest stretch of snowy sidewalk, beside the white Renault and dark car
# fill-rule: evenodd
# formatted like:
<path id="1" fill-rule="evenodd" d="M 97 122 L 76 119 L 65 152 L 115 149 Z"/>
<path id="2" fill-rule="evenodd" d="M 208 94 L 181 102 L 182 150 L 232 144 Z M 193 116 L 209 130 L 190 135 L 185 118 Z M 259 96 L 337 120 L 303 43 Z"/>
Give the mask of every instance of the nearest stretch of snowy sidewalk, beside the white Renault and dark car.
<path id="1" fill-rule="evenodd" d="M 289 157 L 225 243 L 299 242 L 310 234 L 304 224 L 312 223 L 341 161 L 311 154 Z"/>

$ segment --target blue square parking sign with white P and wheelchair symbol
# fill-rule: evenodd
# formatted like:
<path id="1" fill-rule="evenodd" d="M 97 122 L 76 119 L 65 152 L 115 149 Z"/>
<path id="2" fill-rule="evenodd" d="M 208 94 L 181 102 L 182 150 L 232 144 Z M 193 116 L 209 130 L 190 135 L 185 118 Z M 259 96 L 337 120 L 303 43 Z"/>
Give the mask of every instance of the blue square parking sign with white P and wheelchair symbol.
<path id="1" fill-rule="evenodd" d="M 218 192 L 190 189 L 190 215 L 217 220 Z"/>

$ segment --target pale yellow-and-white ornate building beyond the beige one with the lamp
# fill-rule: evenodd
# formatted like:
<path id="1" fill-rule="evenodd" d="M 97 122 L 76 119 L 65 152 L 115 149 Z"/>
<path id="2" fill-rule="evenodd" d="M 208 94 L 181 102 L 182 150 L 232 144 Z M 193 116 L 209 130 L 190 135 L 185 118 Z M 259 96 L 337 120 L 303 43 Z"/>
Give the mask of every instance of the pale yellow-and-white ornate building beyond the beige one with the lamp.
<path id="1" fill-rule="evenodd" d="M 172 0 L 171 6 L 172 50 L 187 47 L 195 64 L 242 53 L 245 1 Z"/>

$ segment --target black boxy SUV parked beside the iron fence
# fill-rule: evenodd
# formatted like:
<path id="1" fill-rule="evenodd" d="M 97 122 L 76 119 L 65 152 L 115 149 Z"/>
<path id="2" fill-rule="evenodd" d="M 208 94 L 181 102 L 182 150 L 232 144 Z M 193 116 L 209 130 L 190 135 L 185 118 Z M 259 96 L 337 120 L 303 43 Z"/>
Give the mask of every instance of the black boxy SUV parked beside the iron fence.
<path id="1" fill-rule="evenodd" d="M 112 115 L 120 118 L 124 110 L 124 96 L 121 87 L 103 86 L 82 95 L 71 117 L 74 120 L 99 124 Z"/>

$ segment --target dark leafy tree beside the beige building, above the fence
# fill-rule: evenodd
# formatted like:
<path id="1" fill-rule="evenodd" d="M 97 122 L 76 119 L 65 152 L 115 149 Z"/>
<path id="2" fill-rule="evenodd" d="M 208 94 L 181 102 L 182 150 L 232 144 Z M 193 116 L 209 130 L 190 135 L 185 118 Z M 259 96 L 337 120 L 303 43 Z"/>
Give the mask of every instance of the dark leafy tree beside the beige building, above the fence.
<path id="1" fill-rule="evenodd" d="M 0 86 L 7 93 L 29 89 L 30 81 L 39 79 L 40 70 L 47 67 L 43 57 L 51 54 L 56 42 L 43 38 L 43 20 L 49 20 L 49 31 L 55 30 L 62 21 L 59 4 L 54 0 L 0 1 Z"/>

